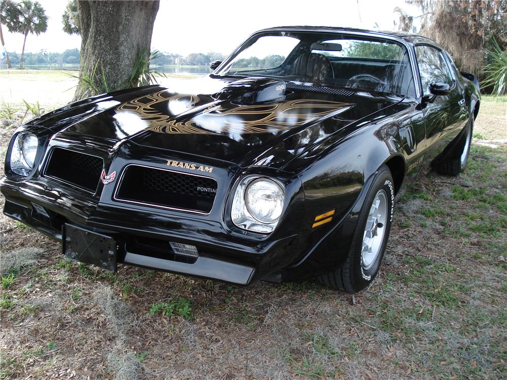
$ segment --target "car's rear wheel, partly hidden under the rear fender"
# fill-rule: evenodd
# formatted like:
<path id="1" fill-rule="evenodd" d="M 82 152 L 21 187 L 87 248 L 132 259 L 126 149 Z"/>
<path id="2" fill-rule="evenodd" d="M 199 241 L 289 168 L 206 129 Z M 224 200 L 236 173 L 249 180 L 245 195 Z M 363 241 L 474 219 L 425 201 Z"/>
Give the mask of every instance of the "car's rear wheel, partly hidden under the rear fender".
<path id="1" fill-rule="evenodd" d="M 471 118 L 458 141 L 448 151 L 444 150 L 444 155 L 432 163 L 434 171 L 442 175 L 456 177 L 465 170 L 472 144 L 473 130 L 474 119 Z"/>

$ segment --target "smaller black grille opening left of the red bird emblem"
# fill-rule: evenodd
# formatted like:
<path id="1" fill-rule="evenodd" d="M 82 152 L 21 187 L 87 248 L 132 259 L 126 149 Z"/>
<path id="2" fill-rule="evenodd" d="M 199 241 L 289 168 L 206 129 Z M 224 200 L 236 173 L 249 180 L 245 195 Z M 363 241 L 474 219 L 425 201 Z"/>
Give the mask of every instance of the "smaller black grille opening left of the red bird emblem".
<path id="1" fill-rule="evenodd" d="M 95 193 L 103 166 L 100 157 L 54 148 L 44 175 Z"/>

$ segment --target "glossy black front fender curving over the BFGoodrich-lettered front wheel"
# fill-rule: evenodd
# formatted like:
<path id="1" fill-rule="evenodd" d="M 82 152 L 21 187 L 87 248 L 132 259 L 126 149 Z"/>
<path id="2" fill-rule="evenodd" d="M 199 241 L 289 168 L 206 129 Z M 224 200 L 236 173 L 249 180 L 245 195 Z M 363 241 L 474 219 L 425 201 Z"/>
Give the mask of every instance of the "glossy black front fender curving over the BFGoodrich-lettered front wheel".
<path id="1" fill-rule="evenodd" d="M 303 225 L 310 231 L 310 248 L 282 278 L 291 278 L 294 273 L 302 276 L 310 269 L 312 272 L 318 268 L 329 271 L 340 265 L 348 255 L 357 217 L 374 174 L 383 164 L 392 172 L 392 163 L 396 161 L 400 172 L 393 173 L 393 177 L 400 181 L 396 186 L 399 188 L 408 167 L 406 157 L 413 156 L 410 159 L 415 164 L 421 161 L 421 156 L 417 158 L 418 152 L 407 153 L 406 140 L 400 137 L 400 129 L 406 127 L 407 120 L 410 124 L 410 119 L 400 117 L 399 120 L 356 129 L 341 139 L 323 142 L 318 150 L 314 148 L 313 154 L 300 158 L 299 163 L 307 163 L 299 176 L 306 201 Z M 333 211 L 329 223 L 314 226 L 319 215 Z"/>

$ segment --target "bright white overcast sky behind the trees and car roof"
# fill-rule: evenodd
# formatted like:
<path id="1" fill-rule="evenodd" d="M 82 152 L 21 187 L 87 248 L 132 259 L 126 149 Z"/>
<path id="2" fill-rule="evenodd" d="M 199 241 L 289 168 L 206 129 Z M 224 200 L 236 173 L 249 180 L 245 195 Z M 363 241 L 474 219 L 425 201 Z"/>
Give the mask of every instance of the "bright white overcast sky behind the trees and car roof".
<path id="1" fill-rule="evenodd" d="M 62 31 L 66 0 L 39 0 L 49 16 L 48 31 L 28 35 L 25 51 L 63 52 L 81 47 L 81 38 Z M 253 0 L 211 2 L 162 0 L 152 36 L 152 49 L 169 53 L 231 53 L 252 32 L 271 26 L 325 25 L 397 29 L 395 7 L 417 11 L 404 0 Z M 8 51 L 21 52 L 23 35 L 3 28 Z M 0 47 L 1 48 L 1 47 Z"/>

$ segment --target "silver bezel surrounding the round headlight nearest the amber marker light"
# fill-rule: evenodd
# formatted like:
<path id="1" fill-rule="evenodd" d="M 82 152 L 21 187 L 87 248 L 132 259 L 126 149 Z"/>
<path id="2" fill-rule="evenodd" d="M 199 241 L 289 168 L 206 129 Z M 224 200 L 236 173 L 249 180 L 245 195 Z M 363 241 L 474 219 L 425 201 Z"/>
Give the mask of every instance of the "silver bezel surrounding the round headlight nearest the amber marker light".
<path id="1" fill-rule="evenodd" d="M 268 181 L 275 184 L 282 193 L 280 215 L 272 222 L 265 222 L 256 218 L 247 207 L 246 191 L 251 184 L 257 181 Z M 285 185 L 272 177 L 262 175 L 246 175 L 240 177 L 233 187 L 232 202 L 230 203 L 230 218 L 234 226 L 242 231 L 251 233 L 269 235 L 278 225 L 285 211 L 286 188 Z"/>

